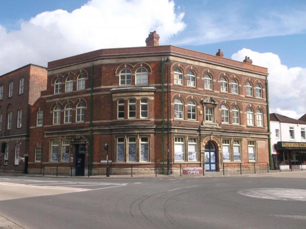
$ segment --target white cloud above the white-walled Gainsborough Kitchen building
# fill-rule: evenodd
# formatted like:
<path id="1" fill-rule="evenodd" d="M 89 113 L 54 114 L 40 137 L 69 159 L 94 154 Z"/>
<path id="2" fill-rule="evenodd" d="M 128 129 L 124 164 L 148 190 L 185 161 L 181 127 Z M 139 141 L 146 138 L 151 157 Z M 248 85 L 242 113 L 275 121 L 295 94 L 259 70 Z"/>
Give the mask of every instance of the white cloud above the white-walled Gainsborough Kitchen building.
<path id="1" fill-rule="evenodd" d="M 306 113 L 306 68 L 288 68 L 278 55 L 241 49 L 232 55 L 234 60 L 250 56 L 253 64 L 267 67 L 269 76 L 270 112 L 290 118 L 300 118 Z"/>

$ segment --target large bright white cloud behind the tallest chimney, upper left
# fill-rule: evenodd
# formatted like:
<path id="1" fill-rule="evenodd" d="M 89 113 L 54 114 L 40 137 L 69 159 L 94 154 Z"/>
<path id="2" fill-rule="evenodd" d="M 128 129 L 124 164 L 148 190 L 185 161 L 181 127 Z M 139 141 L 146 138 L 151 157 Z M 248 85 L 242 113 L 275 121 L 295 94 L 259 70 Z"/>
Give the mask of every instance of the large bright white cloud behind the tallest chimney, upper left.
<path id="1" fill-rule="evenodd" d="M 0 75 L 96 49 L 145 46 L 153 30 L 165 43 L 185 29 L 183 17 L 168 0 L 92 0 L 71 13 L 38 14 L 16 31 L 0 25 Z"/>

